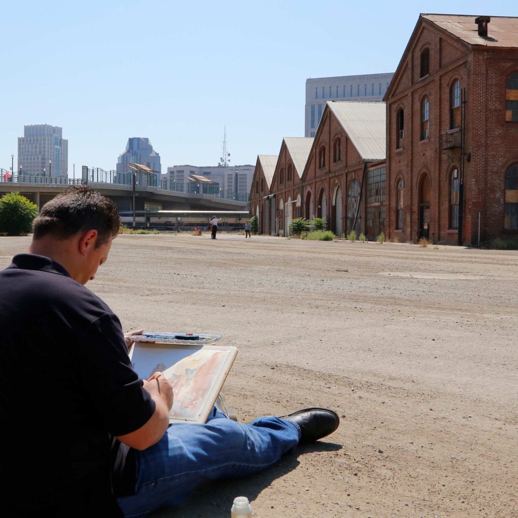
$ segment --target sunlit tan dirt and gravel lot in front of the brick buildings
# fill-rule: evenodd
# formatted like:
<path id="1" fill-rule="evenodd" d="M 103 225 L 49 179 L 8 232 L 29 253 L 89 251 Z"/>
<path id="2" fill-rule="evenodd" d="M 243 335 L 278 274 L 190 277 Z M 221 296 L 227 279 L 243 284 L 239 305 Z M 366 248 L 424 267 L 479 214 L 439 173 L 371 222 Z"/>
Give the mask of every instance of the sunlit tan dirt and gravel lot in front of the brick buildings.
<path id="1" fill-rule="evenodd" d="M 0 238 L 0 267 L 30 238 Z M 125 329 L 223 335 L 240 421 L 326 406 L 327 440 L 155 518 L 518 516 L 518 254 L 119 236 L 90 289 Z M 212 315 L 216 314 L 214 318 Z"/>

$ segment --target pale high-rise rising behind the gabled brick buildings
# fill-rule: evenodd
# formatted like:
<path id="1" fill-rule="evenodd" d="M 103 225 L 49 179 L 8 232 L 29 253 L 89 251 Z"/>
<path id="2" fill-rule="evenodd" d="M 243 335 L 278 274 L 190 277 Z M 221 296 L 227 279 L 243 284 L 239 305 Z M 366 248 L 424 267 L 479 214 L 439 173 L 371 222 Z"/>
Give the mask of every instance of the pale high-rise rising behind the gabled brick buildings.
<path id="1" fill-rule="evenodd" d="M 394 73 L 306 79 L 304 136 L 314 137 L 328 100 L 382 102 Z"/>

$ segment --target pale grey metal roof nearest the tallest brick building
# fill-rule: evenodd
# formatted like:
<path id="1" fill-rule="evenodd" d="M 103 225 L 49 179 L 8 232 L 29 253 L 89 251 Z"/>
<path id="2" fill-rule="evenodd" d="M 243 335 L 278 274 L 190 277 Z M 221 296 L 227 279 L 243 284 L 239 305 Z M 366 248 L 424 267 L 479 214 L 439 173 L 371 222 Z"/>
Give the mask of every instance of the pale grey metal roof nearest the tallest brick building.
<path id="1" fill-rule="evenodd" d="M 385 103 L 328 100 L 327 106 L 335 114 L 363 160 L 385 159 Z"/>

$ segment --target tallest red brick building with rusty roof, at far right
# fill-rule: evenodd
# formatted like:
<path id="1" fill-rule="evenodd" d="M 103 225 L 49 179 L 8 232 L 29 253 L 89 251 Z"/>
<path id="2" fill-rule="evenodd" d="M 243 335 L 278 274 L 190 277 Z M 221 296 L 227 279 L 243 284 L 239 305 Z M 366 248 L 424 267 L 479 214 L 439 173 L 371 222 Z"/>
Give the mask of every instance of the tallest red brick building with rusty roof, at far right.
<path id="1" fill-rule="evenodd" d="M 421 15 L 385 102 L 389 237 L 518 234 L 518 18 Z"/>

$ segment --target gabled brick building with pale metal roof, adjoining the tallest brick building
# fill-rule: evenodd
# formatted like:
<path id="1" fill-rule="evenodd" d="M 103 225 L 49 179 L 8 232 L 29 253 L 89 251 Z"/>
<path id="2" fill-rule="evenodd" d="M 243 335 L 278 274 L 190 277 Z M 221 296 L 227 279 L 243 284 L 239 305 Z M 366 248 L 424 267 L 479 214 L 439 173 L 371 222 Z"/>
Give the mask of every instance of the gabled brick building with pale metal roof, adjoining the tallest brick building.
<path id="1" fill-rule="evenodd" d="M 385 105 L 328 101 L 301 177 L 303 217 L 336 235 L 385 226 Z M 363 195 L 361 193 L 363 192 Z"/>

